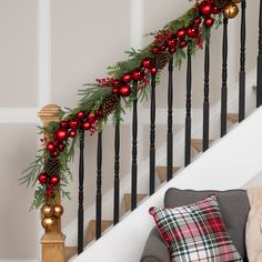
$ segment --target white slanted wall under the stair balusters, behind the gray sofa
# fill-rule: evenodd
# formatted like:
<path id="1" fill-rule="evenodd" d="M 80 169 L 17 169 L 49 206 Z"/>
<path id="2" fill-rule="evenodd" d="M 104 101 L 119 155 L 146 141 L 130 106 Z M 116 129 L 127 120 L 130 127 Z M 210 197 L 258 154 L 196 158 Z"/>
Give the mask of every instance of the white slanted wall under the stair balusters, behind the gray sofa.
<path id="1" fill-rule="evenodd" d="M 244 185 L 262 170 L 261 120 L 262 108 L 73 261 L 139 261 L 154 224 L 149 208 L 162 206 L 164 192 L 169 188 L 228 190 Z"/>

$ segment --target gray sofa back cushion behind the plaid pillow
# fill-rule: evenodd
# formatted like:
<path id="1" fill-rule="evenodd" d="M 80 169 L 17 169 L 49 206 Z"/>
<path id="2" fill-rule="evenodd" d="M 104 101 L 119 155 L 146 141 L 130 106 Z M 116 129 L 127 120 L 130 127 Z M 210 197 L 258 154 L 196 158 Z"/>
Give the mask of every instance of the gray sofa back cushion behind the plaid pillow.
<path id="1" fill-rule="evenodd" d="M 229 232 L 233 244 L 244 261 L 248 261 L 245 251 L 245 222 L 250 204 L 246 191 L 194 191 L 169 189 L 164 195 L 164 206 L 175 208 L 200 201 L 211 194 L 215 194 L 220 204 L 225 230 Z"/>

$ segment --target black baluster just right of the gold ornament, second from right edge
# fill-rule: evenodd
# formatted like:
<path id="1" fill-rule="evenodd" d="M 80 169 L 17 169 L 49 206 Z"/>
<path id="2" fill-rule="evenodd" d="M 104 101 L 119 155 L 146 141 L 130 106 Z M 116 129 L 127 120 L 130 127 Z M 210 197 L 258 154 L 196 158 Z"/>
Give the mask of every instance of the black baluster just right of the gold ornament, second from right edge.
<path id="1" fill-rule="evenodd" d="M 243 0 L 241 3 L 239 122 L 245 117 L 245 8 L 246 1 Z"/>

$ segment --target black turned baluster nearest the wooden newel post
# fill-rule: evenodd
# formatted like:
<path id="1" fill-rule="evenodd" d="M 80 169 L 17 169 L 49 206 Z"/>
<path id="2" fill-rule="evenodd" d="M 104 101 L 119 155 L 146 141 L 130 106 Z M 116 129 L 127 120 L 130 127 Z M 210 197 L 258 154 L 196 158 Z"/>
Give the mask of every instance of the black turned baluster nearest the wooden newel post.
<path id="1" fill-rule="evenodd" d="M 84 131 L 79 131 L 79 209 L 78 209 L 78 254 L 83 251 L 83 178 L 84 178 Z"/>

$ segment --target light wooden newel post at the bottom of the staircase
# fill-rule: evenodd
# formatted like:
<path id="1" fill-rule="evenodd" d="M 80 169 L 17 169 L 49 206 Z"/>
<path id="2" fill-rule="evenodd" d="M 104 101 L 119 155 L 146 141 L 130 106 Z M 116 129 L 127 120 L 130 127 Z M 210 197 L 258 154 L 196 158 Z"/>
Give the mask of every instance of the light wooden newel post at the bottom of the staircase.
<path id="1" fill-rule="evenodd" d="M 38 113 L 43 128 L 47 128 L 51 122 L 60 121 L 60 107 L 48 104 Z M 56 193 L 56 204 L 61 204 L 60 192 Z M 46 230 L 42 239 L 42 262 L 64 262 L 64 239 L 61 231 L 61 218 L 56 219 L 54 226 L 51 230 Z"/>

